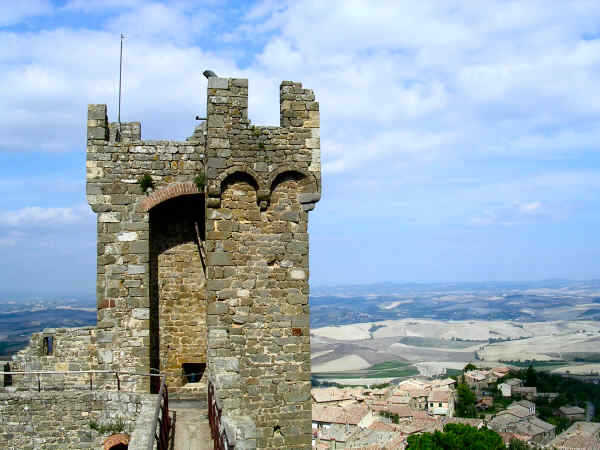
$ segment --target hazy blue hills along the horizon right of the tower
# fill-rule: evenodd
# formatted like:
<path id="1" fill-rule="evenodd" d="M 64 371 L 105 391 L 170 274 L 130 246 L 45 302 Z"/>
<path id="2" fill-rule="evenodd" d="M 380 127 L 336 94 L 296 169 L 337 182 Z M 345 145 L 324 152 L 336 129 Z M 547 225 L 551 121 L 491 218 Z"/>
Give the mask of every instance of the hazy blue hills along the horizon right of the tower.
<path id="1" fill-rule="evenodd" d="M 436 320 L 600 319 L 600 280 L 535 283 L 374 284 L 315 288 L 311 327 Z"/>

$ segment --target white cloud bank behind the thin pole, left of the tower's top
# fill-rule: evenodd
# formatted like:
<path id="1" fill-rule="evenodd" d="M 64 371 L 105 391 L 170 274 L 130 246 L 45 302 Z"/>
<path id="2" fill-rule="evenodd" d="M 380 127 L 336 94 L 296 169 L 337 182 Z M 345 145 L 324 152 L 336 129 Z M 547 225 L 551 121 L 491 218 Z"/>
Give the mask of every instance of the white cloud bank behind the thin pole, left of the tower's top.
<path id="1" fill-rule="evenodd" d="M 86 103 L 108 104 L 110 119 L 116 120 L 118 55 L 118 34 L 0 33 L 0 150 L 83 149 Z M 15 58 L 28 62 L 11 63 Z M 124 61 L 122 117 L 142 120 L 145 138 L 191 135 L 194 117 L 206 105 L 202 70 L 237 71 L 231 60 L 195 47 L 133 38 Z"/>

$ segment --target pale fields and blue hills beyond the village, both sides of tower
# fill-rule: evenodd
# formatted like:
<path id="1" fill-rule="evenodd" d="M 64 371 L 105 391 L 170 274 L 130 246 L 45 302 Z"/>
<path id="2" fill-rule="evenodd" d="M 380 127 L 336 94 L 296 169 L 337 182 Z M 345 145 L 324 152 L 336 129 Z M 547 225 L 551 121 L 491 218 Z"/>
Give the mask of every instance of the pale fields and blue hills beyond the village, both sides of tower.
<path id="1" fill-rule="evenodd" d="M 310 307 L 323 380 L 451 374 L 471 360 L 600 372 L 600 280 L 314 287 Z M 91 298 L 0 301 L 0 355 L 44 328 L 95 323 Z"/>

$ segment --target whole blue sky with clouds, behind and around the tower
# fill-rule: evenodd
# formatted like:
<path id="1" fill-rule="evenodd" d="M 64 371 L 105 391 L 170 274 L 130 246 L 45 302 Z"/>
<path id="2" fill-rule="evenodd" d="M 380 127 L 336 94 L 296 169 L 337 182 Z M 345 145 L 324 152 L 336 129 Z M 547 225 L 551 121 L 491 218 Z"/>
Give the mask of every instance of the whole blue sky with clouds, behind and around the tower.
<path id="1" fill-rule="evenodd" d="M 94 294 L 85 114 L 184 139 L 202 71 L 321 104 L 311 282 L 598 278 L 596 1 L 23 1 L 0 9 L 0 294 Z"/>

